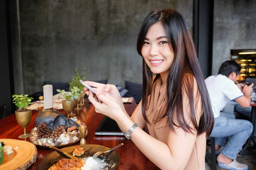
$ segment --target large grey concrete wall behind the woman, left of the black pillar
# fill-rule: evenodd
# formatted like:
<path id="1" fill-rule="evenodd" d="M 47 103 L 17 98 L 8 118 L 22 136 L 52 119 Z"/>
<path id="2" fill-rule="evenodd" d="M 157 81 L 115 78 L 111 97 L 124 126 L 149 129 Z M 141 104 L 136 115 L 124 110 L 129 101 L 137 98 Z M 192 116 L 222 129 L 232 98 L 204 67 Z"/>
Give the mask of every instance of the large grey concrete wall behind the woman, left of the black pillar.
<path id="1" fill-rule="evenodd" d="M 12 4 L 16 1 L 12 0 Z M 11 7 L 15 7 L 12 5 Z M 12 12 L 15 93 L 42 91 L 43 81 L 69 82 L 76 68 L 87 79 L 142 82 L 142 59 L 136 52 L 141 23 L 154 9 L 174 8 L 192 30 L 192 0 L 25 0 Z M 15 13 L 16 12 L 16 13 Z"/>

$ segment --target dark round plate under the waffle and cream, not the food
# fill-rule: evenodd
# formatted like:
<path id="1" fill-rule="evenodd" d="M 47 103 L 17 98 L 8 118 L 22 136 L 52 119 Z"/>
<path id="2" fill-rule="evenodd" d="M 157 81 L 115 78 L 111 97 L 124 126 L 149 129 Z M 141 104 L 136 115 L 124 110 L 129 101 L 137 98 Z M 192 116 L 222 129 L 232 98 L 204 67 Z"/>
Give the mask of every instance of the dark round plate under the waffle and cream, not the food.
<path id="1" fill-rule="evenodd" d="M 73 150 L 76 149 L 76 147 L 83 147 L 86 151 L 84 155 L 77 156 L 77 158 L 85 158 L 88 156 L 93 156 L 94 153 L 98 151 L 107 151 L 110 148 L 97 145 L 97 144 L 85 144 L 85 145 L 76 145 L 76 146 L 70 146 L 70 147 L 64 147 L 61 150 L 66 151 L 67 153 L 70 153 L 72 155 Z M 62 158 L 67 158 L 64 155 L 60 155 L 56 151 L 49 153 L 44 159 L 38 164 L 37 170 L 48 170 L 53 164 L 56 164 L 59 160 Z M 109 164 L 108 170 L 114 170 L 119 165 L 120 157 L 116 153 L 116 151 L 112 151 L 108 153 L 105 156 L 99 156 L 100 159 L 105 159 L 105 161 Z"/>

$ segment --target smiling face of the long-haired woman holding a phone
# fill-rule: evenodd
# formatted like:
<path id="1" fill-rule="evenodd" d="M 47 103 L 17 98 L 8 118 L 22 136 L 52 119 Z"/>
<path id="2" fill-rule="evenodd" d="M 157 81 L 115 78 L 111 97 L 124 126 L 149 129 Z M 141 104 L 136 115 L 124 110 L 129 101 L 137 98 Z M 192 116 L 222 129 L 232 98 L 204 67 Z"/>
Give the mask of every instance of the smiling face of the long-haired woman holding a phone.
<path id="1" fill-rule="evenodd" d="M 148 29 L 141 53 L 154 74 L 169 74 L 174 53 L 169 47 L 166 33 L 160 23 L 155 23 Z"/>

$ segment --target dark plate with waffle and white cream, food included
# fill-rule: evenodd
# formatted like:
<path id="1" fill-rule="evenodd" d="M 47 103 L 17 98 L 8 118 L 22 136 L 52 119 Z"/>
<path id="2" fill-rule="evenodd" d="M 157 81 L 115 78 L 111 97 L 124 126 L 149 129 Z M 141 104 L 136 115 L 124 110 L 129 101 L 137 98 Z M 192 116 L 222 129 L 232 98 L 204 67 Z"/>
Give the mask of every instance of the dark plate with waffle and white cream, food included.
<path id="1" fill-rule="evenodd" d="M 92 159 L 94 153 L 109 149 L 97 144 L 65 147 L 61 150 L 76 156 L 78 159 L 68 159 L 54 151 L 38 164 L 37 170 L 60 170 L 61 168 L 69 168 L 69 170 L 114 170 L 120 162 L 120 157 L 116 151 L 113 150 Z"/>

